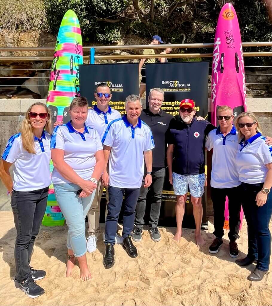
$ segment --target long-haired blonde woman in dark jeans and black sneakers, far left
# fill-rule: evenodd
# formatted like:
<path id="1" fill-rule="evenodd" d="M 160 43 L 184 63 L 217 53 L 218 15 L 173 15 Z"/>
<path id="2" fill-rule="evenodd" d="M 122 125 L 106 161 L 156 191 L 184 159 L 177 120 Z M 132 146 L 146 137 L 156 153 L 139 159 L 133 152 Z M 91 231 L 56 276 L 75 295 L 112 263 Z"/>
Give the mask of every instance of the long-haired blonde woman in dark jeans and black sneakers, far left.
<path id="1" fill-rule="evenodd" d="M 44 293 L 35 280 L 46 272 L 30 267 L 34 241 L 47 205 L 50 179 L 50 137 L 52 116 L 43 103 L 32 104 L 19 133 L 11 136 L 0 161 L 0 178 L 11 194 L 11 207 L 17 231 L 15 241 L 15 285 L 28 297 Z M 12 180 L 9 168 L 13 165 Z"/>

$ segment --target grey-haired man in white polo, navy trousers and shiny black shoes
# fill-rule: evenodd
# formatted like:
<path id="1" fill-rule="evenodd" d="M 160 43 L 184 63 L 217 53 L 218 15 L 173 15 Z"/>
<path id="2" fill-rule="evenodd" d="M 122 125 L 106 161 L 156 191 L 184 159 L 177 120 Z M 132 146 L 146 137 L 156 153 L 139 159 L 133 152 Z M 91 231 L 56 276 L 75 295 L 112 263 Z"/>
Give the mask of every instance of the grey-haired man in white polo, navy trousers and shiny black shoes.
<path id="1" fill-rule="evenodd" d="M 123 196 L 125 196 L 123 247 L 130 257 L 137 257 L 137 249 L 131 241 L 131 233 L 135 207 L 142 185 L 144 162 L 147 168 L 144 187 L 147 188 L 152 183 L 152 149 L 155 145 L 151 129 L 139 118 L 142 110 L 140 97 L 129 95 L 125 101 L 125 109 L 127 114 L 121 119 L 112 121 L 102 139 L 106 166 L 109 161 L 109 173 L 105 167 L 102 175 L 109 191 L 106 251 L 103 258 L 105 268 L 114 265 L 115 234 Z"/>

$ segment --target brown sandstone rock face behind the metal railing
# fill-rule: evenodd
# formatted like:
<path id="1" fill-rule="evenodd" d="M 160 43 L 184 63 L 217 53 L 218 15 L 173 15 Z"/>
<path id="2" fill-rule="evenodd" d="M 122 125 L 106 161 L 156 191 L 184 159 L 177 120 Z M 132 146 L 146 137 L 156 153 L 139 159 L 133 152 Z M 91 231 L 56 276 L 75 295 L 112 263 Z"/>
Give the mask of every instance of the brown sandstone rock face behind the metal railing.
<path id="1" fill-rule="evenodd" d="M 56 37 L 48 32 L 9 32 L 0 30 L 0 47 L 54 47 Z M 140 45 L 149 44 L 148 39 L 142 40 L 136 36 L 126 36 L 118 45 Z M 95 44 L 95 43 L 94 43 Z M 95 44 L 96 45 L 96 44 Z M 142 49 L 128 50 L 97 50 L 99 55 L 128 55 L 142 54 Z M 173 50 L 174 53 L 179 50 Z M 0 52 L 0 56 L 52 56 L 52 51 L 35 52 Z M 89 55 L 89 51 L 84 51 L 84 55 Z M 137 59 L 131 60 L 96 60 L 95 63 L 125 63 L 139 62 Z M 84 60 L 84 64 L 88 64 Z M 46 98 L 49 83 L 51 61 L 0 61 L 0 96 L 18 94 L 22 88 L 27 88 L 38 94 L 41 98 Z M 247 95 L 251 97 L 272 95 L 272 69 L 269 67 L 254 67 L 246 70 Z M 30 78 L 30 80 L 29 80 Z M 32 79 L 33 78 L 33 79 Z M 25 84 L 21 86 L 23 83 Z M 253 83 L 253 84 L 252 84 Z M 209 85 L 210 87 L 210 85 Z M 26 89 L 24 89 L 25 93 Z M 210 91 L 210 88 L 209 88 Z"/>

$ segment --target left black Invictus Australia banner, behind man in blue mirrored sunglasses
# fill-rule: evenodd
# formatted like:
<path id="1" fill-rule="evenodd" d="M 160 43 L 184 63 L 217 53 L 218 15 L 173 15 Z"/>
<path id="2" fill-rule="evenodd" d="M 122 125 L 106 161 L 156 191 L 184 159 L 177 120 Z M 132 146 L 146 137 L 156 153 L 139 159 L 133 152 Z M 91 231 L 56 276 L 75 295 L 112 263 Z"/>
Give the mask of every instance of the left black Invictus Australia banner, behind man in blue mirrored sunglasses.
<path id="1" fill-rule="evenodd" d="M 86 97 L 89 106 L 96 104 L 94 92 L 99 83 L 105 82 L 111 89 L 110 107 L 125 114 L 125 98 L 139 95 L 139 64 L 95 64 L 80 65 L 80 95 Z"/>

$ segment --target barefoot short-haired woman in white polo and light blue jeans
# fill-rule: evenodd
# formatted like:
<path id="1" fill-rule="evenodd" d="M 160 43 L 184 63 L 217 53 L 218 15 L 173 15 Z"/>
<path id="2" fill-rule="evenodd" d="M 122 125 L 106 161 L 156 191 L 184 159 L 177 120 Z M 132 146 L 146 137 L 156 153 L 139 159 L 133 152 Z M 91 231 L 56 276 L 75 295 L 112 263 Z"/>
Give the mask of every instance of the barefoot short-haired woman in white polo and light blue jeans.
<path id="1" fill-rule="evenodd" d="M 98 132 L 86 127 L 88 101 L 74 98 L 69 109 L 71 121 L 54 129 L 51 154 L 52 181 L 56 199 L 69 227 L 66 276 L 77 257 L 80 278 L 91 278 L 86 259 L 85 217 L 95 196 L 95 188 L 104 169 L 103 147 Z"/>

